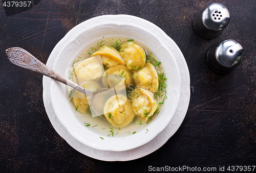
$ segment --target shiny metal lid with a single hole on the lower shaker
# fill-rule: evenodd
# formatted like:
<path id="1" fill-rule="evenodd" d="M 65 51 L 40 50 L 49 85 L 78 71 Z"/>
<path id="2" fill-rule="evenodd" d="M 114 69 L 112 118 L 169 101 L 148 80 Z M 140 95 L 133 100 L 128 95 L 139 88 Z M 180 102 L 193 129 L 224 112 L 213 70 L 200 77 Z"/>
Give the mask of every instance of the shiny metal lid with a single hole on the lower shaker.
<path id="1" fill-rule="evenodd" d="M 237 66 L 244 57 L 243 47 L 238 41 L 228 39 L 216 47 L 216 59 L 224 67 Z"/>

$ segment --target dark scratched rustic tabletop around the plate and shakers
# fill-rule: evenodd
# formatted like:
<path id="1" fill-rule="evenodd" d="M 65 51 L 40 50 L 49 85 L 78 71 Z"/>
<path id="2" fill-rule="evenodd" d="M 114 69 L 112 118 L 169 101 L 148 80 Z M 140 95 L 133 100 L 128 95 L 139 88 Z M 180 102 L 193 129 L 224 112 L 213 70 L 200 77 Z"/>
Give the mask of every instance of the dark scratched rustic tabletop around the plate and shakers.
<path id="1" fill-rule="evenodd" d="M 213 2 L 226 5 L 231 19 L 220 36 L 206 40 L 196 35 L 192 21 Z M 148 172 L 150 165 L 255 165 L 256 1 L 41 0 L 8 17 L 0 5 L 0 172 Z M 46 63 L 54 46 L 76 24 L 105 14 L 134 15 L 160 27 L 180 47 L 194 88 L 174 136 L 159 150 L 133 161 L 99 161 L 73 149 L 48 119 L 42 76 L 10 64 L 5 55 L 6 48 L 19 46 Z M 219 75 L 207 66 L 206 53 L 229 38 L 242 44 L 245 57 L 236 69 Z"/>

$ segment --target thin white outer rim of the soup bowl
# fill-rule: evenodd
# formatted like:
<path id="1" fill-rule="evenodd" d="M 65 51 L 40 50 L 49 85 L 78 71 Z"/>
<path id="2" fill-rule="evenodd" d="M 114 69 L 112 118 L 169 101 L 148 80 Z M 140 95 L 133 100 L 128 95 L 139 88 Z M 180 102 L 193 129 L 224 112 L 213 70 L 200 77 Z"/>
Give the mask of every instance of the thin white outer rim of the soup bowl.
<path id="1" fill-rule="evenodd" d="M 61 56 L 61 53 L 65 50 L 65 48 L 67 47 L 67 45 L 69 45 L 71 42 L 73 42 L 74 40 L 76 40 L 82 33 L 88 32 L 88 31 L 90 31 L 90 30 L 92 30 L 92 29 L 94 29 L 94 28 L 98 28 L 98 27 L 100 27 L 100 26 L 104 26 L 104 25 L 108 25 L 108 24 L 112 24 L 112 25 L 115 25 L 115 26 L 118 26 L 118 27 L 120 27 L 120 26 L 134 27 L 134 28 L 136 28 L 136 29 L 139 29 L 139 30 L 141 30 L 141 31 L 146 32 L 148 35 L 153 36 L 155 39 L 157 39 L 157 41 L 160 43 L 160 45 L 164 47 L 164 49 L 166 50 L 166 52 L 167 52 L 168 55 L 169 55 L 169 56 L 168 56 L 169 60 L 172 61 L 173 64 L 174 64 L 174 66 L 175 66 L 175 68 L 178 69 L 178 64 L 177 64 L 177 62 L 176 62 L 176 60 L 175 60 L 173 54 L 169 51 L 169 49 L 162 43 L 162 41 L 161 41 L 154 33 L 150 32 L 150 31 L 148 31 L 148 30 L 146 30 L 146 29 L 144 29 L 144 28 L 142 28 L 142 27 L 140 27 L 140 26 L 137 26 L 137 25 L 135 25 L 135 24 L 126 23 L 126 22 L 122 22 L 122 23 L 119 23 L 119 22 L 102 22 L 102 23 L 99 23 L 99 24 L 94 24 L 93 26 L 88 27 L 88 28 L 86 28 L 86 29 L 83 29 L 83 30 L 80 31 L 78 34 L 76 34 L 76 36 L 75 36 L 74 38 L 72 38 L 71 40 L 69 40 L 69 41 L 62 47 L 62 49 L 61 49 L 60 52 L 58 53 L 58 56 L 57 56 L 56 60 L 59 59 L 59 57 Z M 65 38 L 65 37 L 63 37 L 62 39 L 64 39 L 64 38 Z M 53 65 L 53 69 L 56 68 L 56 65 L 57 65 L 57 63 L 56 63 L 57 61 L 56 61 L 56 60 L 55 60 L 54 65 Z M 177 72 L 177 74 L 176 74 L 176 75 L 177 75 L 177 85 L 178 85 L 178 87 L 180 88 L 180 85 L 181 85 L 180 73 L 179 73 L 179 70 L 175 70 L 175 71 Z M 169 122 L 170 122 L 170 121 L 172 120 L 172 118 L 174 117 L 174 114 L 175 114 L 175 112 L 176 112 L 176 110 L 177 110 L 177 108 L 178 108 L 179 97 L 180 97 L 180 90 L 178 90 L 179 92 L 177 92 L 177 94 L 176 94 L 176 95 L 177 95 L 177 99 L 176 99 L 176 102 L 174 103 L 174 108 L 173 108 L 173 110 L 172 110 L 172 114 L 171 114 L 170 116 L 168 116 L 168 119 L 165 120 L 164 125 L 162 125 L 162 126 L 159 128 L 159 130 L 158 130 L 157 132 L 152 133 L 153 135 L 151 135 L 151 138 L 148 138 L 146 141 L 140 142 L 139 144 L 136 144 L 136 145 L 133 145 L 133 146 L 126 146 L 126 147 L 123 147 L 123 148 L 102 147 L 102 146 L 99 147 L 99 146 L 95 146 L 95 145 L 91 144 L 91 142 L 87 142 L 87 141 L 83 141 L 83 140 L 81 141 L 80 138 L 77 137 L 77 136 L 73 133 L 73 131 L 69 128 L 69 126 L 67 126 L 66 122 L 63 122 L 61 116 L 58 114 L 57 108 L 54 106 L 54 105 L 56 105 L 55 102 L 54 102 L 54 97 L 53 97 L 53 91 L 54 91 L 54 90 L 52 89 L 54 83 L 57 83 L 57 82 L 54 81 L 54 80 L 52 80 L 51 86 L 50 86 L 50 87 L 51 87 L 51 89 L 50 89 L 50 95 L 51 95 L 51 100 L 52 100 L 53 109 L 54 109 L 54 111 L 55 111 L 55 113 L 56 113 L 56 116 L 57 116 L 57 118 L 59 119 L 60 123 L 61 123 L 61 124 L 67 129 L 67 131 L 68 131 L 76 140 L 78 140 L 79 142 L 81 142 L 81 143 L 83 143 L 83 144 L 85 144 L 85 145 L 87 145 L 87 146 L 90 146 L 90 147 L 92 147 L 93 149 L 96 149 L 96 150 L 103 150 L 103 151 L 115 151 L 115 152 L 120 152 L 120 151 L 131 150 L 131 149 L 134 149 L 134 148 L 136 148 L 136 147 L 139 147 L 139 146 L 141 146 L 141 145 L 143 145 L 143 144 L 145 144 L 145 143 L 151 141 L 152 139 L 154 139 L 159 133 L 161 133 L 161 132 L 168 126 Z"/>

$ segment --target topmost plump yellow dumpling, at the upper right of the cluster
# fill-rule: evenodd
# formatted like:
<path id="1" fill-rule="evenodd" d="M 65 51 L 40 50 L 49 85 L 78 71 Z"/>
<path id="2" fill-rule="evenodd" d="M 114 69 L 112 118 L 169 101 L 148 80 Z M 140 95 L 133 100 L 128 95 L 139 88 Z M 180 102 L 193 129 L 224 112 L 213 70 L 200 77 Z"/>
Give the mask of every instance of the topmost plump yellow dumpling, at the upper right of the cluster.
<path id="1" fill-rule="evenodd" d="M 141 46 L 134 42 L 127 42 L 120 46 L 120 55 L 129 69 L 139 69 L 146 62 L 146 54 Z"/>

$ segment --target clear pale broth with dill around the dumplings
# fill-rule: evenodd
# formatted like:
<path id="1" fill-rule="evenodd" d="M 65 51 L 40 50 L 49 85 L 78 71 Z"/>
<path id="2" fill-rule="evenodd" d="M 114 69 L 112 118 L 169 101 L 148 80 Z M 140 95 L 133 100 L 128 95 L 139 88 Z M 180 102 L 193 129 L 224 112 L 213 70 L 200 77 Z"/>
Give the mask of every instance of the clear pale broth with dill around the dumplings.
<path id="1" fill-rule="evenodd" d="M 80 52 L 77 53 L 76 58 L 74 59 L 74 62 L 76 64 L 76 63 L 79 63 L 79 61 L 82 61 L 84 59 L 91 57 L 91 54 L 96 51 L 95 48 L 98 50 L 98 48 L 100 48 L 101 45 L 112 46 L 118 50 L 118 47 L 120 47 L 120 45 L 122 43 L 127 42 L 127 40 L 131 40 L 131 39 L 132 38 L 115 36 L 115 37 L 103 37 L 101 40 L 93 41 L 92 44 L 90 44 L 91 45 L 90 47 L 84 47 Z M 150 55 L 150 56 L 147 56 L 147 59 L 150 60 L 151 63 L 154 65 L 154 61 L 153 61 L 154 54 L 152 52 L 150 52 L 148 50 L 148 48 L 146 46 L 144 46 L 143 43 L 137 42 L 136 40 L 134 40 L 134 41 L 136 43 L 138 43 L 139 45 L 143 46 L 143 48 L 146 50 L 146 54 Z M 155 55 L 154 55 L 154 59 L 157 60 L 157 57 Z M 159 66 L 159 68 L 160 68 L 160 66 Z M 161 72 L 163 71 L 161 68 L 160 69 L 159 68 L 156 68 L 158 70 L 158 73 L 160 73 L 160 71 Z M 66 75 L 67 78 L 69 79 L 70 76 L 68 75 L 68 72 L 66 74 L 67 74 Z M 133 89 L 135 88 L 135 86 L 136 85 L 134 82 L 133 86 L 126 88 L 127 94 L 131 93 L 133 91 Z M 70 90 L 70 88 L 69 88 L 69 90 Z M 127 95 L 127 98 L 129 99 L 129 95 Z M 163 98 L 161 98 L 159 96 L 156 96 L 155 98 L 158 103 L 163 101 Z M 72 97 L 69 97 L 69 95 L 67 94 L 67 100 L 71 101 L 71 99 L 72 99 Z M 108 120 L 103 119 L 100 116 L 92 117 L 90 110 L 87 112 L 87 114 L 83 114 L 79 111 L 76 111 L 75 104 L 73 101 L 71 101 L 70 104 L 73 107 L 72 111 L 73 111 L 74 115 L 79 120 L 79 122 L 81 122 L 84 125 L 84 128 L 88 128 L 92 132 L 94 132 L 102 137 L 111 136 L 111 137 L 122 137 L 123 138 L 125 136 L 132 135 L 133 133 L 137 133 L 139 131 L 144 131 L 145 133 L 148 132 L 147 126 L 150 125 L 150 123 L 141 122 L 139 117 L 136 115 L 135 115 L 133 121 L 129 125 L 127 125 L 126 127 L 120 128 L 120 130 L 119 130 L 118 128 L 113 127 L 109 123 Z M 156 118 L 156 117 L 157 117 L 157 114 L 152 117 L 152 120 L 154 120 L 154 118 Z"/>

